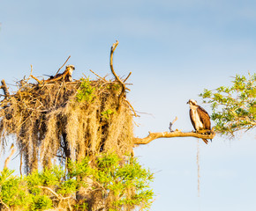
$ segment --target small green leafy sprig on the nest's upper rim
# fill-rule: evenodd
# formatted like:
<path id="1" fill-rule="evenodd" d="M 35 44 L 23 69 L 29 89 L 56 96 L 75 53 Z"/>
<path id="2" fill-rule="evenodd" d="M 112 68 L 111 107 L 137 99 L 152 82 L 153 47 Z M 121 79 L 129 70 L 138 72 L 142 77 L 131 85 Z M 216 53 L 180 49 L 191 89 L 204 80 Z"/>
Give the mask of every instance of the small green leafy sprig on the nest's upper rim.
<path id="1" fill-rule="evenodd" d="M 89 78 L 81 78 L 82 83 L 80 84 L 76 98 L 79 102 L 87 101 L 90 102 L 94 99 L 95 88 L 91 86 Z"/>

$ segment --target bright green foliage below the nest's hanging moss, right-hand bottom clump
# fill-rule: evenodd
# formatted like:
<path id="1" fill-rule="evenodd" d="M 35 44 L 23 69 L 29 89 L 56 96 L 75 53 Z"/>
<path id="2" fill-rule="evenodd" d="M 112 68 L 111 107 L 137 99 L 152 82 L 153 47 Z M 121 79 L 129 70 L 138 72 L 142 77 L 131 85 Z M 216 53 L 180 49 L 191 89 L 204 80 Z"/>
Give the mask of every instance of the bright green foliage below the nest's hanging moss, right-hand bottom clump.
<path id="1" fill-rule="evenodd" d="M 79 164 L 70 164 L 71 175 L 87 175 L 92 179 L 93 189 L 100 190 L 103 199 L 112 199 L 109 200 L 109 210 L 150 207 L 154 193 L 149 183 L 153 180 L 153 174 L 143 169 L 135 158 L 124 161 L 116 154 L 101 154 L 95 159 L 94 168 L 87 161 L 86 158 Z M 82 181 L 79 185 L 85 186 Z"/>

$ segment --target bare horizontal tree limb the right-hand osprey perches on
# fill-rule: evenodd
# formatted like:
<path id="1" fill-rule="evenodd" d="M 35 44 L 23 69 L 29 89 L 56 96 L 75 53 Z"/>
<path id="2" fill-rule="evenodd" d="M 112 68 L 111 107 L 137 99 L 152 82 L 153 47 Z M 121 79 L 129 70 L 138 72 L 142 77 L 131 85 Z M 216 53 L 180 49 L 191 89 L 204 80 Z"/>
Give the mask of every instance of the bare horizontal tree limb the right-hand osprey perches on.
<path id="1" fill-rule="evenodd" d="M 181 131 L 174 131 L 174 132 L 162 132 L 162 133 L 150 133 L 147 135 L 145 138 L 134 138 L 133 143 L 134 144 L 147 144 L 149 142 L 154 141 L 155 139 L 158 138 L 175 138 L 175 137 L 195 137 L 195 138 L 201 138 L 201 139 L 213 139 L 215 137 L 215 132 L 212 131 L 207 131 L 210 132 L 209 135 L 204 135 L 200 133 L 195 133 L 195 132 L 181 132 Z"/>

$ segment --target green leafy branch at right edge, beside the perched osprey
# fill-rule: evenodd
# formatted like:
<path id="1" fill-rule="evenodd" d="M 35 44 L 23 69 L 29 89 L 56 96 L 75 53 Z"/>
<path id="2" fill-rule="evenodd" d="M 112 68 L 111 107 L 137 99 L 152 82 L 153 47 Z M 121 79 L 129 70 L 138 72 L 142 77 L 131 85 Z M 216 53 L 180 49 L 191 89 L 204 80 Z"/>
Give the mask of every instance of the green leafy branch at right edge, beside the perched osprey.
<path id="1" fill-rule="evenodd" d="M 200 97 L 213 108 L 217 132 L 233 136 L 238 130 L 256 127 L 256 74 L 248 78 L 237 75 L 232 86 L 205 90 Z"/>

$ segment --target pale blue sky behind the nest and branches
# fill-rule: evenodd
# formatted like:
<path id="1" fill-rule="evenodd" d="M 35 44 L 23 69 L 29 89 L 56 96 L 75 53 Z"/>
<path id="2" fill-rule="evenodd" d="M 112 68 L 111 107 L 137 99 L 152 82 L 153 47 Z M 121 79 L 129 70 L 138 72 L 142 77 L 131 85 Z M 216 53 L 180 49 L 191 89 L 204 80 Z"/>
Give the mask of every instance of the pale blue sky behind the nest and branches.
<path id="1" fill-rule="evenodd" d="M 94 78 L 89 69 L 110 78 L 109 50 L 119 40 L 117 74 L 132 71 L 128 98 L 137 111 L 150 113 L 135 120 L 135 135 L 166 131 L 176 116 L 174 128 L 191 131 L 189 98 L 201 103 L 204 88 L 255 72 L 255 10 L 254 1 L 0 0 L 1 79 L 14 84 L 31 64 L 34 76 L 52 75 L 69 55 L 75 78 Z M 197 139 L 160 139 L 135 149 L 141 164 L 156 172 L 151 210 L 255 210 L 255 131 L 199 144 L 200 197 Z"/>

